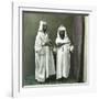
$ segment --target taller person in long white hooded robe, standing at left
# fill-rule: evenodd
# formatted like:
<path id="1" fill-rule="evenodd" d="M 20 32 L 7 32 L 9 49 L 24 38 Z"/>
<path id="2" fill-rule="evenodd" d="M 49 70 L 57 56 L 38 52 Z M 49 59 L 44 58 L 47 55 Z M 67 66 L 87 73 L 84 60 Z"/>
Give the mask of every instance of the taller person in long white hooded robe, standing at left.
<path id="1" fill-rule="evenodd" d="M 50 75 L 55 75 L 52 44 L 46 33 L 47 24 L 40 22 L 40 29 L 35 40 L 35 79 L 44 82 Z"/>

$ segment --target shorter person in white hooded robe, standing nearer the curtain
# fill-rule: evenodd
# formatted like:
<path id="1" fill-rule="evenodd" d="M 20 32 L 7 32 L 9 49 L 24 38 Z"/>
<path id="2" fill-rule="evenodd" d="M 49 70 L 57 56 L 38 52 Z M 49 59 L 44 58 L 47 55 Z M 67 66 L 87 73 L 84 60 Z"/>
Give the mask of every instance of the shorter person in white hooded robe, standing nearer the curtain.
<path id="1" fill-rule="evenodd" d="M 57 62 L 56 62 L 56 79 L 67 78 L 70 69 L 70 52 L 74 46 L 67 36 L 66 28 L 61 25 L 57 30 Z"/>

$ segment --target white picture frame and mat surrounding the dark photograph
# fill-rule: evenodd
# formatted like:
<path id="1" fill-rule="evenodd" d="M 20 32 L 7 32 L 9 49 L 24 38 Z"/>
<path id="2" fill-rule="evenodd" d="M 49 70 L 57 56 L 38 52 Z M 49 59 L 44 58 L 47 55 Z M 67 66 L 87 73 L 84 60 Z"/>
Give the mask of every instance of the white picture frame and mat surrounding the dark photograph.
<path id="1" fill-rule="evenodd" d="M 63 6 L 62 6 L 63 7 Z M 90 87 L 94 88 L 94 85 L 91 85 L 90 80 L 90 68 L 89 68 L 89 33 L 94 31 L 90 25 L 91 22 L 94 22 L 94 19 L 96 18 L 94 15 L 95 9 L 92 7 L 85 8 L 80 7 L 64 7 L 62 8 L 59 6 L 34 6 L 33 3 L 19 3 L 19 2 L 12 2 L 12 96 L 35 96 L 37 94 L 41 94 L 41 90 L 53 90 L 51 87 L 53 87 L 55 90 L 56 86 L 57 88 L 67 87 L 65 88 L 66 91 L 69 89 L 69 92 L 77 92 L 77 91 L 85 91 L 87 88 L 90 90 Z M 87 75 L 87 81 L 80 82 L 80 84 L 57 84 L 57 85 L 33 85 L 33 86 L 25 86 L 22 87 L 22 11 L 36 11 L 36 12 L 54 12 L 54 13 L 80 13 L 80 14 L 88 14 L 88 19 L 86 19 L 87 22 L 87 29 L 86 29 L 86 43 L 87 43 L 87 52 L 85 55 L 87 55 L 85 58 L 85 65 L 87 66 L 86 75 Z M 91 67 L 92 68 L 92 67 Z M 95 70 L 94 70 L 95 72 Z M 81 89 L 80 89 L 81 88 Z M 78 89 L 78 90 L 77 90 Z M 87 90 L 88 90 L 87 89 Z M 57 94 L 57 92 L 56 92 Z M 44 95 L 44 94 L 43 94 Z"/>

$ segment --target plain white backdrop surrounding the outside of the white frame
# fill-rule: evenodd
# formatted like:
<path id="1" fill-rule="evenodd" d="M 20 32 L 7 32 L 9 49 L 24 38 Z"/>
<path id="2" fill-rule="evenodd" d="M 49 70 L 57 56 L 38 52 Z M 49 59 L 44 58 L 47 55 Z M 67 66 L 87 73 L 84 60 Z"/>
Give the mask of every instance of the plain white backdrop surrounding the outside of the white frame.
<path id="1" fill-rule="evenodd" d="M 1 0 L 0 1 L 0 99 L 11 99 L 11 1 L 12 0 Z M 22 0 L 20 0 L 22 1 Z M 91 45 L 91 64 L 97 65 L 97 84 L 99 84 L 99 2 L 98 0 L 30 0 L 36 3 L 66 3 L 70 6 L 94 6 L 97 9 L 97 35 L 94 35 L 95 44 Z M 97 92 L 94 94 L 72 94 L 72 95 L 63 95 L 63 96 L 44 96 L 44 97 L 34 97 L 34 99 L 99 99 L 99 85 L 97 85 Z M 21 99 L 21 98 L 20 98 Z M 30 99 L 30 98 L 25 98 Z M 33 99 L 33 97 L 31 98 Z"/>

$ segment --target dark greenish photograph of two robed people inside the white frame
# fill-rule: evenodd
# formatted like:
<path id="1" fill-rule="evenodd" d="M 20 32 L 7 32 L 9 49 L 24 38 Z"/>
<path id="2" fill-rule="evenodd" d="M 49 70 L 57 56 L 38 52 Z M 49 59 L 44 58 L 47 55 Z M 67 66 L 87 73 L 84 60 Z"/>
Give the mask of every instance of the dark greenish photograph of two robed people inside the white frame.
<path id="1" fill-rule="evenodd" d="M 87 81 L 86 18 L 22 11 L 22 86 Z"/>

